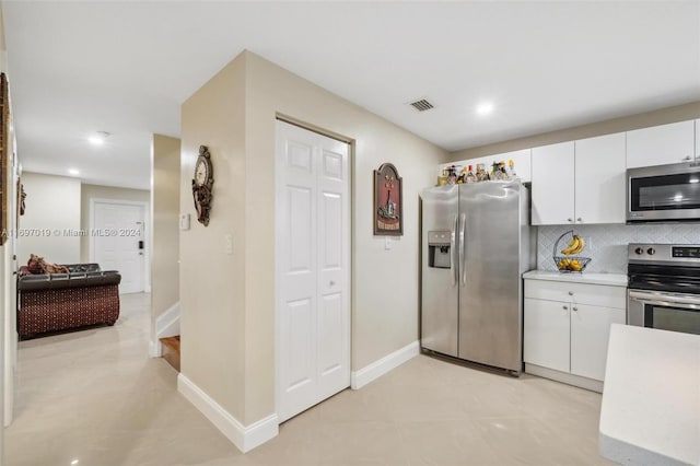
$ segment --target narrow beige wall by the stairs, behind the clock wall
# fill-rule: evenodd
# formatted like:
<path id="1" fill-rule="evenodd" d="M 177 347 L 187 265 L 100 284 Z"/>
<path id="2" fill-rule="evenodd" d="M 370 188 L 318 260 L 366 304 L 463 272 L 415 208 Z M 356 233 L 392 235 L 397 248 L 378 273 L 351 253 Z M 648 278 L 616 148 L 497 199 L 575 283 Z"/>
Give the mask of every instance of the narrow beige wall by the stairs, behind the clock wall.
<path id="1" fill-rule="evenodd" d="M 155 319 L 179 302 L 179 139 L 153 135 L 151 163 L 151 340 L 154 340 Z"/>

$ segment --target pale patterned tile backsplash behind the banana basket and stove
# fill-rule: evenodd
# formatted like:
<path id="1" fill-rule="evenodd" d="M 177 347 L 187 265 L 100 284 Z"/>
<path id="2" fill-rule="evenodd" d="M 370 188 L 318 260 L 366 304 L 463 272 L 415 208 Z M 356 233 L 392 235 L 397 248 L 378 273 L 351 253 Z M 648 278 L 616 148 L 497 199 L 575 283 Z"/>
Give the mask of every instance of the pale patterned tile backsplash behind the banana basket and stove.
<path id="1" fill-rule="evenodd" d="M 581 255 L 592 259 L 587 272 L 627 273 L 628 243 L 700 244 L 700 224 L 692 223 L 538 226 L 538 269 L 557 270 L 552 260 L 555 243 L 571 230 L 586 240 L 586 248 Z M 560 248 L 567 244 L 562 241 Z"/>

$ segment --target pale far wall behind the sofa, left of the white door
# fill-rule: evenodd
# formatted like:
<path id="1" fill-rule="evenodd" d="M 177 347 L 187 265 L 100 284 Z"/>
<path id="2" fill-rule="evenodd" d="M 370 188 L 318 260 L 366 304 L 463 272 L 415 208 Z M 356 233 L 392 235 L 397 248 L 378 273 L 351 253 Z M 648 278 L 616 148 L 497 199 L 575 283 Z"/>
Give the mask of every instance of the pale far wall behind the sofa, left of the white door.
<path id="1" fill-rule="evenodd" d="M 48 263 L 79 263 L 80 179 L 24 172 L 22 184 L 26 211 L 20 218 L 19 264 L 25 265 L 32 253 Z"/>

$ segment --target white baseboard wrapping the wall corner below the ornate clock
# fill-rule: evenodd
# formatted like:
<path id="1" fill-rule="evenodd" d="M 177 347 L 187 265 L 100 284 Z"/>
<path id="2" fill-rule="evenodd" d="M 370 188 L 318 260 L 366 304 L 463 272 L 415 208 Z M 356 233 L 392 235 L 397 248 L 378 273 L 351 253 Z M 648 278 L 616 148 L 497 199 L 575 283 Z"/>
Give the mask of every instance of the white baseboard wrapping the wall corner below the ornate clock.
<path id="1" fill-rule="evenodd" d="M 270 415 L 250 426 L 243 426 L 182 372 L 177 376 L 177 391 L 243 453 L 276 438 L 279 433 L 277 415 Z"/>

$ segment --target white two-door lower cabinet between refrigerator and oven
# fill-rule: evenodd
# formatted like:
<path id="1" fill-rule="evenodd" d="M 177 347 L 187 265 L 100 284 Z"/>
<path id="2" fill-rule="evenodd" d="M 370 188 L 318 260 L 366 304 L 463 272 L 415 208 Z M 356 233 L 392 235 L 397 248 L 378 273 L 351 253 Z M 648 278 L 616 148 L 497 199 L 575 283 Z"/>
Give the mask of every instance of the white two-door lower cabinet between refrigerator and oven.
<path id="1" fill-rule="evenodd" d="M 525 280 L 525 372 L 602 389 L 611 324 L 625 324 L 626 288 Z"/>

